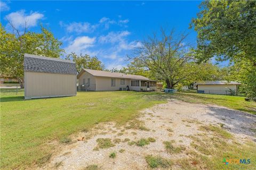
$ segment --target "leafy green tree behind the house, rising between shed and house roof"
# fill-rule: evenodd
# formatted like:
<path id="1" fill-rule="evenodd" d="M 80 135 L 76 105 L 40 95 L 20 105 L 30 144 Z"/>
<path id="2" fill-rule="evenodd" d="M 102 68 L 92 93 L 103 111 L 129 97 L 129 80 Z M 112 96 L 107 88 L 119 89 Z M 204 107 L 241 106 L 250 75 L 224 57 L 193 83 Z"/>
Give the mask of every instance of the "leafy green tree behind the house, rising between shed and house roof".
<path id="1" fill-rule="evenodd" d="M 92 69 L 92 70 L 103 70 L 104 65 L 96 57 L 90 57 L 89 55 L 76 53 L 70 53 L 66 56 L 67 60 L 73 60 L 76 63 L 76 71 L 79 73 L 82 69 Z"/>

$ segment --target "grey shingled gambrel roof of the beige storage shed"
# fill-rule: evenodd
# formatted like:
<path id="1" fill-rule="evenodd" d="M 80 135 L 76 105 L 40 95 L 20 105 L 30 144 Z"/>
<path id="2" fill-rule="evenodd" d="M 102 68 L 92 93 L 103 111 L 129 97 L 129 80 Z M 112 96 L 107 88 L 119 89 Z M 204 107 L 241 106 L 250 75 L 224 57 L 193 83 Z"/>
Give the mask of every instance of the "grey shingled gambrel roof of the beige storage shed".
<path id="1" fill-rule="evenodd" d="M 24 55 L 24 71 L 77 74 L 73 61 L 31 54 Z"/>

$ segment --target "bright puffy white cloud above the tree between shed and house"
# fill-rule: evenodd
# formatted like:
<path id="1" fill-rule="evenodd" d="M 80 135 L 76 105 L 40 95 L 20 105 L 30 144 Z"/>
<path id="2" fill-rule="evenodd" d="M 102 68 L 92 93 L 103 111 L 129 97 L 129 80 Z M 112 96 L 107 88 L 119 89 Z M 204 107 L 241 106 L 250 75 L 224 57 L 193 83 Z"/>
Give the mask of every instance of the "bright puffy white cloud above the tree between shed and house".
<path id="1" fill-rule="evenodd" d="M 71 43 L 65 48 L 65 51 L 67 54 L 75 52 L 77 54 L 83 53 L 93 55 L 93 53 L 89 53 L 88 48 L 94 46 L 95 40 L 95 37 L 77 37 L 73 41 L 71 41 Z"/>

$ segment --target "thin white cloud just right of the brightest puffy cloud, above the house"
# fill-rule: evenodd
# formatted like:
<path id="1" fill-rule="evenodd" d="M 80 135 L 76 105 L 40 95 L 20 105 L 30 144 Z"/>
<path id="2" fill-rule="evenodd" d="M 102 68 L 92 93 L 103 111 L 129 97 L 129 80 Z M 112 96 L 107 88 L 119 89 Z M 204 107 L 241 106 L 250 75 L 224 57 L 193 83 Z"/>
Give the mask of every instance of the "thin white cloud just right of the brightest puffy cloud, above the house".
<path id="1" fill-rule="evenodd" d="M 129 31 L 120 32 L 109 32 L 106 36 L 100 36 L 100 43 L 120 43 L 124 41 L 124 37 L 129 36 L 131 33 Z"/>

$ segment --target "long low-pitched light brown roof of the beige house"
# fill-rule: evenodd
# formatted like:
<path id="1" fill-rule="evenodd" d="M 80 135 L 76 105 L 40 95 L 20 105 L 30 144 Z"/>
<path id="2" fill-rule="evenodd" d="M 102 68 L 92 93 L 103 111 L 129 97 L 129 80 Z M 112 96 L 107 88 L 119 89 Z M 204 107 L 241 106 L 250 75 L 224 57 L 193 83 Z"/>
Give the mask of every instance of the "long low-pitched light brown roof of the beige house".
<path id="1" fill-rule="evenodd" d="M 98 76 L 98 77 L 110 77 L 110 78 L 121 78 L 121 79 L 123 78 L 123 79 L 134 79 L 134 80 L 149 80 L 148 78 L 143 77 L 142 75 L 124 74 L 124 73 L 100 71 L 100 70 L 91 70 L 91 69 L 83 69 L 77 75 L 77 78 L 79 78 L 80 75 L 82 75 L 85 71 L 94 75 L 94 76 Z"/>

